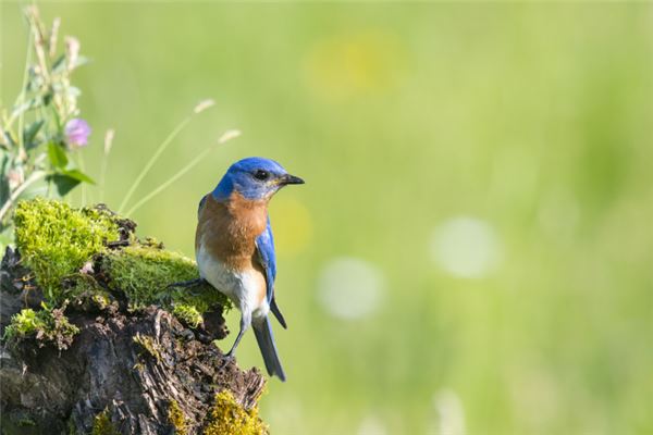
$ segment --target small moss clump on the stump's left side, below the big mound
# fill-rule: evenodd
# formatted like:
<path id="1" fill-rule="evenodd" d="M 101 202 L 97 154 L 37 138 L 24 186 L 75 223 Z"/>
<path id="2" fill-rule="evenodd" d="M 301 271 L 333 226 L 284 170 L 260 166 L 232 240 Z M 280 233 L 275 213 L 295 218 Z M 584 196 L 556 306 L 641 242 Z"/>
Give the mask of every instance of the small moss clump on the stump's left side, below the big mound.
<path id="1" fill-rule="evenodd" d="M 70 347 L 78 332 L 79 328 L 63 315 L 63 309 L 50 310 L 44 306 L 40 311 L 27 308 L 14 314 L 4 330 L 3 339 L 15 345 L 26 338 L 35 338 L 39 346 L 52 344 L 59 350 L 64 350 Z"/>

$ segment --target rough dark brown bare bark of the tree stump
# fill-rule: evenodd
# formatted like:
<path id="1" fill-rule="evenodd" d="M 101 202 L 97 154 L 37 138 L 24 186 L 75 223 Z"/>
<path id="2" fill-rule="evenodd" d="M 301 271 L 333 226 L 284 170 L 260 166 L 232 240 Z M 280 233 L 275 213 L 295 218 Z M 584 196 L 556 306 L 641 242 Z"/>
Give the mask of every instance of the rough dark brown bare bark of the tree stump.
<path id="1" fill-rule="evenodd" d="M 4 331 L 12 314 L 42 298 L 16 252 L 8 249 L 0 274 Z M 239 370 L 211 343 L 227 334 L 221 312 L 205 315 L 198 330 L 155 306 L 132 312 L 116 301 L 71 304 L 65 314 L 79 328 L 69 349 L 37 337 L 3 344 L 3 434 L 100 433 L 98 415 L 111 422 L 103 433 L 181 433 L 170 418 L 175 403 L 186 433 L 200 433 L 217 393 L 231 391 L 249 410 L 264 388 L 256 369 Z"/>

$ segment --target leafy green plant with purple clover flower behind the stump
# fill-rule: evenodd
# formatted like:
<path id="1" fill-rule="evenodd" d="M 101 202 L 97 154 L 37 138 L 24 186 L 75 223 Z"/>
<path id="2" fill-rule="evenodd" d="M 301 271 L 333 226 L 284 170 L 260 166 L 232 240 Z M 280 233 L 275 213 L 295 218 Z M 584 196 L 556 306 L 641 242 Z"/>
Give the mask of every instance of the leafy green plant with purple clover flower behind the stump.
<path id="1" fill-rule="evenodd" d="M 73 71 L 86 63 L 79 41 L 66 36 L 59 53 L 61 20 L 47 28 L 36 5 L 23 12 L 28 27 L 23 82 L 13 105 L 4 87 L 0 101 L 0 248 L 11 239 L 11 212 L 27 188 L 45 179 L 45 195 L 64 197 L 81 183 L 95 183 L 71 159 L 90 134 L 86 121 L 76 117 L 81 91 L 71 84 Z"/>

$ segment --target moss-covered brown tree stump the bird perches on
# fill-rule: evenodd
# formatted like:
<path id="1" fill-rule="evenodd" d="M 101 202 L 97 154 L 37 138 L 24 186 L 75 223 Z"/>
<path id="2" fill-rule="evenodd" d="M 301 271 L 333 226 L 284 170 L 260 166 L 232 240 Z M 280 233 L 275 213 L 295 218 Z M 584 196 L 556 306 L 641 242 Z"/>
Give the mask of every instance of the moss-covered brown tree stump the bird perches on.
<path id="1" fill-rule="evenodd" d="M 229 302 L 103 208 L 16 210 L 0 270 L 3 434 L 260 434 L 266 381 L 215 346 Z"/>

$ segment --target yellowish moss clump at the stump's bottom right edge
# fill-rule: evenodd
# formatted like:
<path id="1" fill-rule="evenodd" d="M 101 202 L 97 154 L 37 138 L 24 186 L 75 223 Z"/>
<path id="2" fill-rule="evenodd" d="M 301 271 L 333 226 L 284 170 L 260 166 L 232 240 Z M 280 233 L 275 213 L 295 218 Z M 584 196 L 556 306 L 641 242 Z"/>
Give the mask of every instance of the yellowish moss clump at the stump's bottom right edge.
<path id="1" fill-rule="evenodd" d="M 215 395 L 215 402 L 205 423 L 205 435 L 260 435 L 268 426 L 259 419 L 258 409 L 243 409 L 234 396 L 223 390 Z"/>

